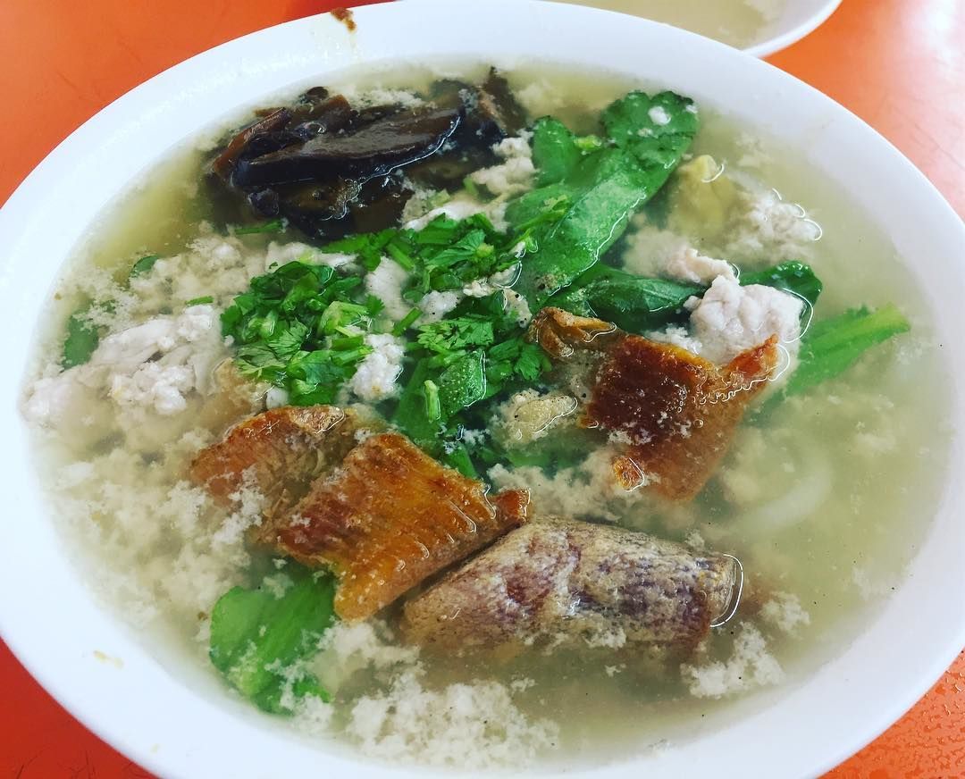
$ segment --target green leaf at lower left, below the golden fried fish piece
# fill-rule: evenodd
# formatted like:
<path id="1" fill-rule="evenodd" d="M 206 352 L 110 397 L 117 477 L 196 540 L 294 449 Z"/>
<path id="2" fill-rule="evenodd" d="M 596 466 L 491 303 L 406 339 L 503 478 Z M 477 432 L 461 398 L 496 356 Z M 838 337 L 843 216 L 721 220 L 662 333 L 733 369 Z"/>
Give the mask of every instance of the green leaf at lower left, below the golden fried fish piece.
<path id="1" fill-rule="evenodd" d="M 290 713 L 295 701 L 328 693 L 298 663 L 317 652 L 334 620 L 335 579 L 290 564 L 274 587 L 234 587 L 211 613 L 209 656 L 242 695 L 261 709 Z M 284 584 L 279 597 L 276 591 Z"/>

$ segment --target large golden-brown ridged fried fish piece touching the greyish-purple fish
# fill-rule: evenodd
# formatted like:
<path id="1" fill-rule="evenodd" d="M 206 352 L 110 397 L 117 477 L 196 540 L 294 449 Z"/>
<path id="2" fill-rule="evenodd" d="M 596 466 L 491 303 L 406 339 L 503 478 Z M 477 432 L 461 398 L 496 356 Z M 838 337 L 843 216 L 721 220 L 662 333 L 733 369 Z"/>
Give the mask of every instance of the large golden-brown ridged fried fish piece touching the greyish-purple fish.
<path id="1" fill-rule="evenodd" d="M 521 490 L 488 496 L 483 483 L 387 432 L 317 479 L 272 532 L 285 554 L 339 574 L 340 617 L 365 619 L 524 522 L 528 502 Z"/>

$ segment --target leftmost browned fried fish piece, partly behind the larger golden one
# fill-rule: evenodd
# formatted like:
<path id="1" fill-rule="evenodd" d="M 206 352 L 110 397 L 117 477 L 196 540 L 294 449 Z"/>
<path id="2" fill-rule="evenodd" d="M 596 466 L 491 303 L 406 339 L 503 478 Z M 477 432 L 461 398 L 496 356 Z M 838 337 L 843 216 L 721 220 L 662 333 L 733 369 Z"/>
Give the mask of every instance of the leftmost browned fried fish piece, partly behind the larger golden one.
<path id="1" fill-rule="evenodd" d="M 326 469 L 345 458 L 358 420 L 334 405 L 286 405 L 246 419 L 191 463 L 193 482 L 222 504 L 246 480 L 265 495 L 267 514 L 297 501 Z"/>

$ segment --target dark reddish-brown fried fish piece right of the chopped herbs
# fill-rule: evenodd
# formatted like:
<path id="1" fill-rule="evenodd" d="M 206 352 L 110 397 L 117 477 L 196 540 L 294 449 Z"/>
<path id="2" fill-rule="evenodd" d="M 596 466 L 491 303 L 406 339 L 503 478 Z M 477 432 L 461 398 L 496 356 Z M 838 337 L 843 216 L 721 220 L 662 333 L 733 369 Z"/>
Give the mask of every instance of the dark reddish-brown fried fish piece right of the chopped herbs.
<path id="1" fill-rule="evenodd" d="M 620 486 L 647 485 L 680 501 L 703 489 L 748 403 L 778 363 L 776 337 L 717 366 L 610 322 L 553 308 L 539 312 L 529 338 L 561 363 L 568 360 L 588 374 L 581 424 L 616 433 L 624 444 L 614 460 Z"/>

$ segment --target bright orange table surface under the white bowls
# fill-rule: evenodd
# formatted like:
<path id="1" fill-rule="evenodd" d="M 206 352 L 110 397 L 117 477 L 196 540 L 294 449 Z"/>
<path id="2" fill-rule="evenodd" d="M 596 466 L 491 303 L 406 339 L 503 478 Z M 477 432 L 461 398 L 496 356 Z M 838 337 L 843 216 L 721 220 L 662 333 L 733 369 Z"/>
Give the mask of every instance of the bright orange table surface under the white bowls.
<path id="1" fill-rule="evenodd" d="M 335 5 L 0 0 L 0 203 L 71 130 L 155 73 Z M 811 36 L 770 61 L 875 127 L 965 214 L 963 51 L 965 0 L 844 0 Z M 0 777 L 151 776 L 74 720 L 2 644 L 0 690 Z M 965 777 L 965 654 L 896 725 L 828 776 Z"/>

